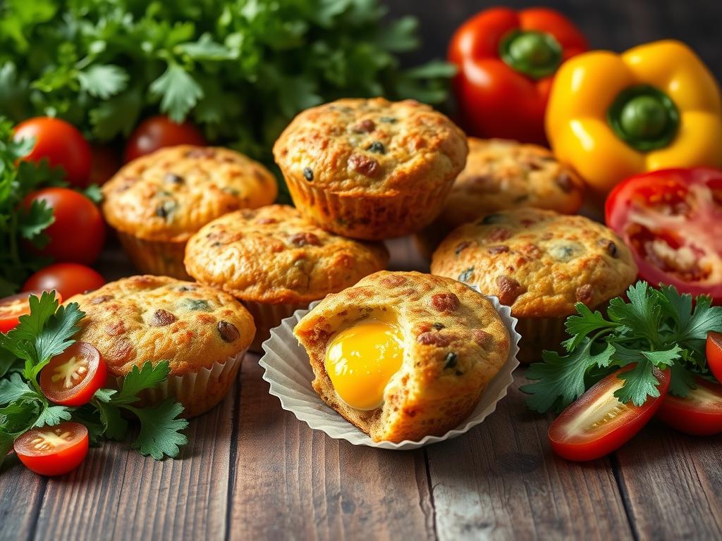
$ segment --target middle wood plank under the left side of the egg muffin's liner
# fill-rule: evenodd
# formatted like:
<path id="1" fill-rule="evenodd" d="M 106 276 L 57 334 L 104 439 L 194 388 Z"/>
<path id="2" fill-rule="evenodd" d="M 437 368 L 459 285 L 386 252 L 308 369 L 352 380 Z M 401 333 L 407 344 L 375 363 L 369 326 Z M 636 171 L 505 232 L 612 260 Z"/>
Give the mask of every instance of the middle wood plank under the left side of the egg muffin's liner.
<path id="1" fill-rule="evenodd" d="M 432 539 L 424 453 L 354 447 L 312 431 L 242 367 L 229 533 L 238 539 Z"/>

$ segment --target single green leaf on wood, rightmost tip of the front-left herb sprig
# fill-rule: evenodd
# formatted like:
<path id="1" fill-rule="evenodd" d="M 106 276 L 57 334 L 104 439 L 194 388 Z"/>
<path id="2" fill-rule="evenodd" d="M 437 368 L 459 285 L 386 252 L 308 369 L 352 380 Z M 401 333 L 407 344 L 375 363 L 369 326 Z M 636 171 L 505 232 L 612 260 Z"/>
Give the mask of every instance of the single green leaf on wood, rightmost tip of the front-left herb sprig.
<path id="1" fill-rule="evenodd" d="M 181 430 L 188 426 L 188 421 L 178 419 L 178 415 L 183 413 L 183 406 L 172 397 L 152 408 L 126 408 L 140 420 L 140 432 L 133 447 L 139 449 L 141 454 L 149 454 L 156 460 L 161 460 L 164 455 L 175 458 L 181 452 L 179 446 L 188 443 L 188 438 L 181 434 Z"/>

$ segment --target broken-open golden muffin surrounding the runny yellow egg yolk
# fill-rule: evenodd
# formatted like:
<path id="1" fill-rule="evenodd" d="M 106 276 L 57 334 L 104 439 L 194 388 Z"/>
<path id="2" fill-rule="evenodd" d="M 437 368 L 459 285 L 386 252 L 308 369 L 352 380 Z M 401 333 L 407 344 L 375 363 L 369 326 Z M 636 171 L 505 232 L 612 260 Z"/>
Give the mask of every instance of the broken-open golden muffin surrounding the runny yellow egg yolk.
<path id="1" fill-rule="evenodd" d="M 403 360 L 388 383 L 381 382 L 383 403 L 358 409 L 342 399 L 326 362 L 339 337 L 374 321 L 396 328 Z M 508 330 L 484 296 L 457 281 L 417 272 L 378 272 L 327 296 L 298 322 L 294 335 L 308 352 L 313 389 L 374 441 L 418 441 L 458 426 L 510 348 Z M 356 339 L 372 348 L 370 356 L 381 351 L 363 336 Z M 359 356 L 353 346 L 349 353 Z"/>

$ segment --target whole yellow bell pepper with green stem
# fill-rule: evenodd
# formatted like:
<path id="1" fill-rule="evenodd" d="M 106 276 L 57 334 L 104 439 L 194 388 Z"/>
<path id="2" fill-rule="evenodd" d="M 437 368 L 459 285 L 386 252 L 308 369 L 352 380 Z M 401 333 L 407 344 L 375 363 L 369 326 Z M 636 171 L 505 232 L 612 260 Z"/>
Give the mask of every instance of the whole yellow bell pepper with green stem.
<path id="1" fill-rule="evenodd" d="M 720 89 L 674 40 L 562 64 L 545 118 L 554 154 L 601 195 L 638 173 L 722 165 Z"/>

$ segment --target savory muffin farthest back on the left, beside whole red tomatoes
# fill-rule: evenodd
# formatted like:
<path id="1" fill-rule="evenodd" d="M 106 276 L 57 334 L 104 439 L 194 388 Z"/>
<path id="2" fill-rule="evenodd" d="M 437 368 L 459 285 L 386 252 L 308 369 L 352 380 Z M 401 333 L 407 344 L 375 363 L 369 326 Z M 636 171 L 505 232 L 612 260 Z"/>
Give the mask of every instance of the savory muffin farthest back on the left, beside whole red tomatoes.
<path id="1" fill-rule="evenodd" d="M 271 172 L 238 152 L 171 146 L 135 159 L 103 185 L 103 214 L 136 268 L 188 278 L 186 242 L 209 221 L 238 208 L 273 203 Z"/>

